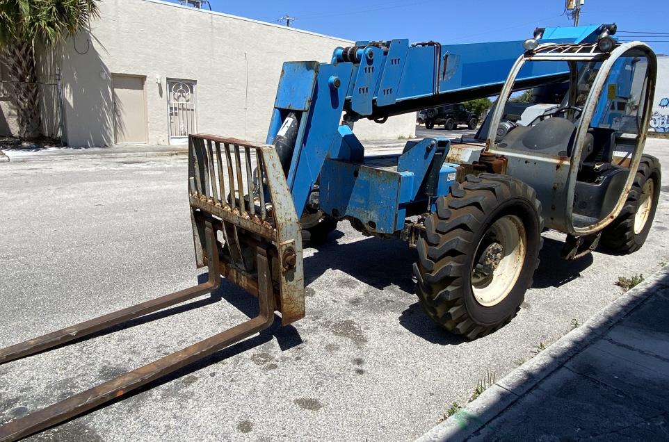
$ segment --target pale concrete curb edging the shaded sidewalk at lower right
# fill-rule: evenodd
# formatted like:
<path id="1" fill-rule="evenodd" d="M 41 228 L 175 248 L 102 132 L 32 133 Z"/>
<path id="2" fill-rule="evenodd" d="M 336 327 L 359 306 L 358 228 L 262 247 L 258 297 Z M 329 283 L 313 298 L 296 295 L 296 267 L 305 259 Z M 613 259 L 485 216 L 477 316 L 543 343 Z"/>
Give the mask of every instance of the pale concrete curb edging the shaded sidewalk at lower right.
<path id="1" fill-rule="evenodd" d="M 430 429 L 417 442 L 465 441 L 590 343 L 606 334 L 615 323 L 647 300 L 654 293 L 658 282 L 668 275 L 669 265 L 665 265 L 642 284 L 608 304 L 583 325 L 565 334 L 546 350 L 495 382 L 476 400 L 469 402 L 467 407 Z"/>

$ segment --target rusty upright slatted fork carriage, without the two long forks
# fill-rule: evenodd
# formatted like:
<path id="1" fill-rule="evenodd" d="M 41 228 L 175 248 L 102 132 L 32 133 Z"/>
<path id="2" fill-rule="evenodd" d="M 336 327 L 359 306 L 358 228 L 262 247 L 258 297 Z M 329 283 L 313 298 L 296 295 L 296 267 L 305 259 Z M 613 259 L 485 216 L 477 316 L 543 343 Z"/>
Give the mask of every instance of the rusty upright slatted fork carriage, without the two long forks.
<path id="1" fill-rule="evenodd" d="M 275 147 L 191 135 L 188 196 L 198 268 L 208 262 L 209 222 L 217 235 L 220 275 L 257 296 L 255 250 L 264 250 L 282 324 L 304 318 L 300 224 Z"/>

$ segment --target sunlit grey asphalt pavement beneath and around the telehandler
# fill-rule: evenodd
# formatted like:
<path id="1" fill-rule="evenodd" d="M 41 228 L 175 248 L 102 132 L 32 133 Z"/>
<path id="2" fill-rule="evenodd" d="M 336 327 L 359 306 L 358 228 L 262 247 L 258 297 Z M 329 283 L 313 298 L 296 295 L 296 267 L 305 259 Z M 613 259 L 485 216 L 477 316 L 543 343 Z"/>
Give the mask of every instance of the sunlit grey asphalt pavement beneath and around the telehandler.
<path id="1" fill-rule="evenodd" d="M 369 143 L 369 150 L 402 145 Z M 666 165 L 668 147 L 667 140 L 649 140 L 647 152 Z M 0 346 L 198 282 L 185 156 L 10 162 L 0 170 Z M 636 254 L 562 261 L 562 236 L 547 232 L 518 316 L 468 342 L 421 311 L 413 294 L 415 252 L 341 222 L 330 243 L 305 249 L 305 319 L 275 324 L 33 440 L 415 439 L 453 402 L 466 403 L 487 373 L 501 379 L 574 320 L 583 323 L 618 299 L 618 277 L 647 277 L 669 261 L 668 228 L 665 184 L 650 236 Z M 224 282 L 211 296 L 113 334 L 0 366 L 0 423 L 255 312 L 254 298 Z"/>

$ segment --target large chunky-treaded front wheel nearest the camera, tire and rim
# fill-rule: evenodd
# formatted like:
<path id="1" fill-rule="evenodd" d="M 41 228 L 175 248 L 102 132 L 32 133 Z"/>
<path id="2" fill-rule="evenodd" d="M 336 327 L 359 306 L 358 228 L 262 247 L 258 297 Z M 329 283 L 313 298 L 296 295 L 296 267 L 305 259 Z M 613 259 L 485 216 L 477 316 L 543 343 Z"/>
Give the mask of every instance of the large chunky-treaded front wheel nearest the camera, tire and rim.
<path id="1" fill-rule="evenodd" d="M 417 242 L 414 275 L 427 315 L 469 339 L 513 318 L 539 263 L 540 213 L 535 191 L 517 179 L 467 175 L 453 184 Z"/>

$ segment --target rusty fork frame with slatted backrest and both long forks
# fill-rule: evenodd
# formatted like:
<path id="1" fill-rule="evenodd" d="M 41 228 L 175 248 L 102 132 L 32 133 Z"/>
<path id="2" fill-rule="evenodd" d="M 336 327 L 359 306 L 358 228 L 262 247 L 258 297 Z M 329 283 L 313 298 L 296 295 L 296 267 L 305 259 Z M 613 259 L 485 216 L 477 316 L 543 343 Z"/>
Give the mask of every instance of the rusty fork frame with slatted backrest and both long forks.
<path id="1" fill-rule="evenodd" d="M 257 163 L 255 172 L 252 172 L 252 158 Z M 195 262 L 198 267 L 209 268 L 207 281 L 6 347 L 0 350 L 0 365 L 211 293 L 220 286 L 221 276 L 258 297 L 258 316 L 12 420 L 0 427 L 0 442 L 22 439 L 63 423 L 248 338 L 270 327 L 275 311 L 281 313 L 284 325 L 304 316 L 299 221 L 274 147 L 234 138 L 191 135 L 188 195 Z M 217 233 L 223 236 L 222 243 Z"/>

